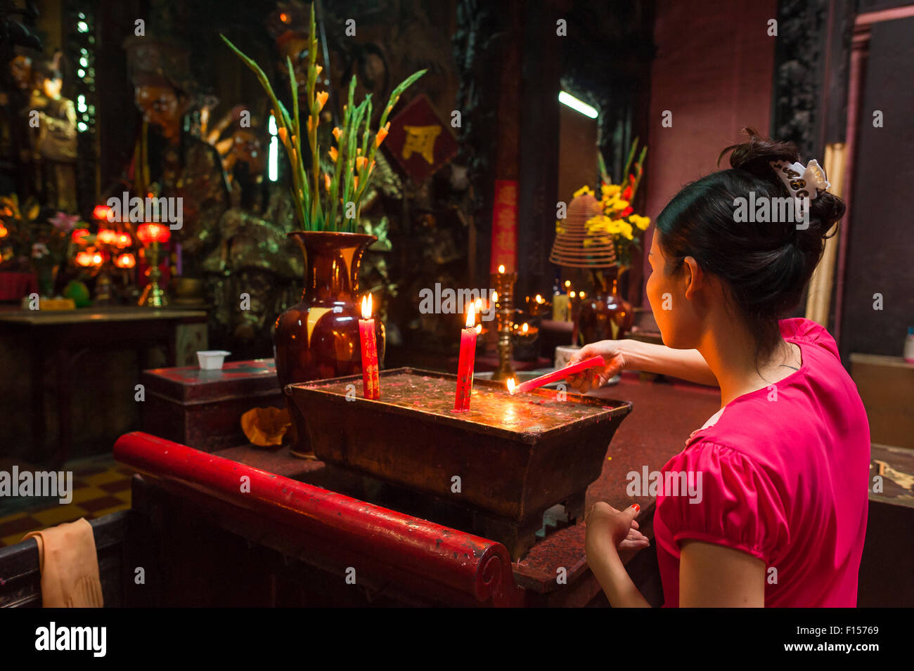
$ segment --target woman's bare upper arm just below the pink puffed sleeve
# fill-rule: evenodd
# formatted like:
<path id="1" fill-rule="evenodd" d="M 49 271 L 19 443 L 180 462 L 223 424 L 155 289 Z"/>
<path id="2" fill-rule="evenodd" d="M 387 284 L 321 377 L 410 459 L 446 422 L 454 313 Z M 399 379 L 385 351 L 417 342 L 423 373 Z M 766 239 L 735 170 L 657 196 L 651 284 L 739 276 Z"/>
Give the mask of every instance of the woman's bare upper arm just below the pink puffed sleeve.
<path id="1" fill-rule="evenodd" d="M 685 540 L 679 555 L 679 607 L 764 608 L 765 562 L 723 545 Z"/>

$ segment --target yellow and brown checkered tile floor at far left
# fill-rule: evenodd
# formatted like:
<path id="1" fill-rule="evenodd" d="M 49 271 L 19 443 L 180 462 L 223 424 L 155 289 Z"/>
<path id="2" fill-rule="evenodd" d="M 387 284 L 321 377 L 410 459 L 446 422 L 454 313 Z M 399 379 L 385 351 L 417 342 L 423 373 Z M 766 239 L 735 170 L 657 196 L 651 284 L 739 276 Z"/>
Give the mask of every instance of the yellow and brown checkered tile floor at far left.
<path id="1" fill-rule="evenodd" d="M 0 546 L 14 545 L 29 531 L 47 529 L 76 519 L 101 518 L 130 508 L 133 471 L 111 458 L 84 460 L 65 467 L 73 471 L 73 500 L 67 505 L 37 503 L 35 508 L 0 517 Z"/>

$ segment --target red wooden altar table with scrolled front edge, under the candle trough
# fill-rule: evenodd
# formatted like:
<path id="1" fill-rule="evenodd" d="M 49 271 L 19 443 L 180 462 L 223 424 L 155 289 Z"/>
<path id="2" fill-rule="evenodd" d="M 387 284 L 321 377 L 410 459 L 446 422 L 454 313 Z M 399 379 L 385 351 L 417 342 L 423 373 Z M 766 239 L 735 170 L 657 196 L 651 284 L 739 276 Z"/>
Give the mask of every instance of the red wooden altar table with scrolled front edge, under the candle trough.
<path id="1" fill-rule="evenodd" d="M 653 539 L 654 499 L 630 498 L 626 494 L 626 475 L 640 472 L 645 466 L 652 471 L 663 467 L 682 449 L 689 433 L 717 411 L 719 393 L 687 383 L 643 383 L 636 375 L 623 373 L 622 383 L 591 395 L 631 401 L 633 412 L 622 422 L 603 457 L 600 476 L 587 488 L 585 509 L 598 500 L 608 501 L 615 508 L 639 503 L 639 524 Z M 133 441 L 133 446 L 127 445 Z M 367 499 L 377 494 L 377 483 L 353 474 L 347 477 L 344 470 L 328 468 L 320 461 L 289 456 L 286 447 L 238 446 L 216 455 L 192 451 L 198 461 L 187 462 L 183 472 L 154 463 L 152 457 L 163 451 L 161 442 L 144 435 L 124 436 L 115 448 L 116 458 L 145 473 L 134 486 L 133 505 L 150 524 L 159 525 L 151 537 L 160 539 L 157 551 L 168 560 L 172 571 L 164 583 L 173 592 L 164 597 L 161 605 L 199 604 L 198 594 L 188 602 L 190 588 L 182 593 L 177 586 L 193 585 L 194 590 L 199 590 L 201 571 L 212 576 L 209 580 L 214 591 L 219 585 L 225 587 L 227 581 L 234 582 L 233 598 L 244 595 L 243 603 L 251 605 L 605 604 L 600 586 L 587 568 L 582 520 L 563 526 L 566 520 L 549 519 L 547 512 L 547 523 L 537 534 L 536 543 L 519 561 L 512 561 L 505 546 L 494 540 L 369 503 Z M 231 460 L 238 470 L 210 472 L 206 460 L 217 457 Z M 262 511 L 252 510 L 250 505 L 257 497 L 251 495 L 255 492 L 236 493 L 245 469 L 266 473 L 278 482 L 284 482 L 279 478 L 289 477 L 319 490 L 300 493 L 327 513 L 319 516 L 323 521 L 317 522 L 314 511 L 300 510 L 292 514 L 294 521 L 282 524 L 270 521 Z M 204 477 L 219 473 L 225 479 L 223 488 L 214 487 Z M 346 488 L 351 493 L 340 494 L 332 488 Z M 278 513 L 283 506 L 287 512 L 291 509 L 291 489 L 282 489 L 283 485 L 276 490 L 277 502 L 260 501 L 265 510 Z M 401 502 L 409 507 L 409 500 Z M 199 522 L 192 524 L 195 518 Z M 388 526 L 394 520 L 395 526 Z M 301 523 L 316 526 L 302 529 Z M 210 539 L 206 543 L 200 540 L 201 529 Z M 225 529 L 228 534 L 217 536 L 212 529 Z M 240 552 L 240 556 L 233 555 L 229 562 L 226 552 L 234 542 L 231 539 L 241 539 L 241 550 L 232 550 Z M 442 544 L 463 543 L 464 550 L 452 550 L 457 551 L 457 557 L 451 554 L 450 558 L 442 558 L 438 540 Z M 223 545 L 214 545 L 217 541 Z M 246 563 L 245 555 L 256 561 Z M 239 584 L 238 575 L 227 574 L 229 564 L 256 566 L 257 575 L 244 571 L 244 584 Z M 346 569 L 350 567 L 356 570 L 356 584 L 362 590 L 345 582 Z M 648 600 L 659 605 L 662 592 L 654 547 L 636 554 L 627 567 Z M 564 580 L 559 581 L 560 577 Z M 256 581 L 260 582 L 255 585 Z M 217 600 L 209 603 L 212 605 L 225 600 L 216 592 L 210 598 Z"/>

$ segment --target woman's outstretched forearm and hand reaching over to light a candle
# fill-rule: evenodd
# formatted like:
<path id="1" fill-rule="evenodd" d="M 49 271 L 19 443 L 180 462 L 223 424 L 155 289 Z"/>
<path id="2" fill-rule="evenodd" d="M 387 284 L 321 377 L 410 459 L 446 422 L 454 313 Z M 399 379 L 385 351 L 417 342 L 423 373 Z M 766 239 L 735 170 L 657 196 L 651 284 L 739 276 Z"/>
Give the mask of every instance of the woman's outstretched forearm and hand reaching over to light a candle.
<path id="1" fill-rule="evenodd" d="M 717 378 L 708 368 L 705 358 L 697 350 L 674 350 L 666 345 L 656 345 L 652 342 L 632 340 L 591 342 L 577 351 L 569 363 L 577 363 L 598 355 L 607 362 L 603 371 L 596 372 L 599 382 L 594 379 L 594 371 L 597 369 L 589 369 L 569 378 L 571 386 L 579 389 L 581 393 L 587 393 L 591 387 L 606 383 L 613 375 L 623 370 L 654 372 L 692 383 L 718 386 Z"/>

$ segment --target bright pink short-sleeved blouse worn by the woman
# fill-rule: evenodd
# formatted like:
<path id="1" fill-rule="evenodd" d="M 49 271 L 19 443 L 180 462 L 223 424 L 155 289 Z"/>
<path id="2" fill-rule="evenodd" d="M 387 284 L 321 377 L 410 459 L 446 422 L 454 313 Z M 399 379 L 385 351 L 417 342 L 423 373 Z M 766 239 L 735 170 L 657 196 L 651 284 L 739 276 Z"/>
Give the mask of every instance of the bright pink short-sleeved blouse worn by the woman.
<path id="1" fill-rule="evenodd" d="M 856 606 L 866 412 L 828 331 L 792 319 L 781 335 L 800 347 L 800 370 L 728 403 L 663 468 L 671 484 L 657 497 L 654 536 L 664 607 L 679 605 L 679 543 L 690 539 L 764 561 L 766 607 Z M 673 488 L 687 477 L 700 487 Z"/>

